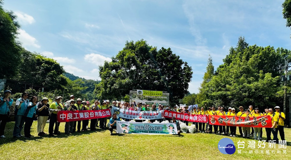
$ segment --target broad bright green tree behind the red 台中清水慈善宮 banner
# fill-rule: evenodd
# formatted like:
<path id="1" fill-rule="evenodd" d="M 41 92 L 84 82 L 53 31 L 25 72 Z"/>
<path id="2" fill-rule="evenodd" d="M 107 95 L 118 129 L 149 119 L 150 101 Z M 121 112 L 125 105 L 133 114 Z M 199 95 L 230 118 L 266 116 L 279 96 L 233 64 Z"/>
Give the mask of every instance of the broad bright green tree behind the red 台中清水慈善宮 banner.
<path id="1" fill-rule="evenodd" d="M 279 64 L 289 57 L 290 51 L 246 44 L 239 38 L 237 47 L 230 49 L 224 64 L 203 87 L 210 104 L 231 107 L 252 104 L 261 109 L 281 104 Z"/>

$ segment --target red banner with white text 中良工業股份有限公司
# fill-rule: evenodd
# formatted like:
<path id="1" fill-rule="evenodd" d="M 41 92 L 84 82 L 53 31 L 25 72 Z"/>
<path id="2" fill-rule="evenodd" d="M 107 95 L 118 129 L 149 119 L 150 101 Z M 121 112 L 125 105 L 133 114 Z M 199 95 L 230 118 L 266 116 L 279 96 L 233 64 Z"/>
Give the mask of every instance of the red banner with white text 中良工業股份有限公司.
<path id="1" fill-rule="evenodd" d="M 110 117 L 110 109 L 95 111 L 59 111 L 57 114 L 58 122 L 70 122 L 78 120 L 90 120 L 96 118 Z"/>

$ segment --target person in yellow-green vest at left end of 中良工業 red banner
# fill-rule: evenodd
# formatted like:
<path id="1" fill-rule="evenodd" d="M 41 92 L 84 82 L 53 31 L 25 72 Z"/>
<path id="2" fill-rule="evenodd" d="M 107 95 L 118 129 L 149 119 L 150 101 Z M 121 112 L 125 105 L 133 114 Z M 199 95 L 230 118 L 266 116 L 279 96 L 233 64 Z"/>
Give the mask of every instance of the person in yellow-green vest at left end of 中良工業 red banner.
<path id="1" fill-rule="evenodd" d="M 49 111 L 52 112 L 51 118 L 49 120 L 49 136 L 54 136 L 61 133 L 60 131 L 58 131 L 58 127 L 60 126 L 60 123 L 57 121 L 58 111 L 64 110 L 62 104 L 60 103 L 61 100 L 62 100 L 62 97 L 58 96 L 55 98 L 55 102 L 52 102 L 52 104 L 49 106 Z M 54 129 L 54 125 L 56 125 L 55 129 Z"/>

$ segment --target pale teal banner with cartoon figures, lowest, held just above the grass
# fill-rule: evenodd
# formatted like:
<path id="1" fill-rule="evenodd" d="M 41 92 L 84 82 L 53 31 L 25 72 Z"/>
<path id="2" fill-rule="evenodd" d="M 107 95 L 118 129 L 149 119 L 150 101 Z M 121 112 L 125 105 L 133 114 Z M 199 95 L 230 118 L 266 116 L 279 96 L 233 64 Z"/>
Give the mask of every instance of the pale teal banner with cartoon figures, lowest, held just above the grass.
<path id="1" fill-rule="evenodd" d="M 119 134 L 178 134 L 175 123 L 116 122 Z"/>

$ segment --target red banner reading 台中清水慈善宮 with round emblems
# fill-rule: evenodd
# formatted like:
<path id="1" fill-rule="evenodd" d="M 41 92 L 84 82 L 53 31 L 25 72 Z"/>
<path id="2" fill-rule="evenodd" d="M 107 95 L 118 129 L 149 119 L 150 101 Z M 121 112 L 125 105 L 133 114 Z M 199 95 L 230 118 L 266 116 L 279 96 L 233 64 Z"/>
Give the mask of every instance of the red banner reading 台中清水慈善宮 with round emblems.
<path id="1" fill-rule="evenodd" d="M 230 115 L 208 115 L 210 125 L 237 127 L 272 127 L 272 117 L 269 115 L 258 117 L 239 117 Z"/>

